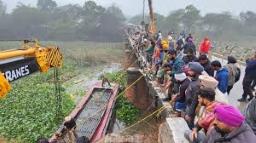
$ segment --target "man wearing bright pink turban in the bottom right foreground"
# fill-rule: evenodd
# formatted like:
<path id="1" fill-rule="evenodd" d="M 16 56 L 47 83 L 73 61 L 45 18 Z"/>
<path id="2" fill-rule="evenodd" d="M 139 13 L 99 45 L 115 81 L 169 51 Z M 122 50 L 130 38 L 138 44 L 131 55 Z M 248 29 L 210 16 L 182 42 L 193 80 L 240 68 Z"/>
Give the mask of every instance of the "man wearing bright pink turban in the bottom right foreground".
<path id="1" fill-rule="evenodd" d="M 205 143 L 255 143 L 256 136 L 245 117 L 231 105 L 219 105 L 214 110 L 214 129 Z"/>

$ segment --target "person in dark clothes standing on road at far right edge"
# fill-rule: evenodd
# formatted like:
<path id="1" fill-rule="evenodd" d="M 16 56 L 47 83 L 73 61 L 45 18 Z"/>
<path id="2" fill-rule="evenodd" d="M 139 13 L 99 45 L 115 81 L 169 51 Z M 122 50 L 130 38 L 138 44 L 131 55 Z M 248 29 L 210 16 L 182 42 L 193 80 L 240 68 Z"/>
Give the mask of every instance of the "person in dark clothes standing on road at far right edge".
<path id="1" fill-rule="evenodd" d="M 243 79 L 243 90 L 244 93 L 242 98 L 238 99 L 239 102 L 245 102 L 247 100 L 247 95 L 249 95 L 249 101 L 252 100 L 253 93 L 251 84 L 256 79 L 256 53 L 251 59 L 246 60 L 245 75 Z"/>

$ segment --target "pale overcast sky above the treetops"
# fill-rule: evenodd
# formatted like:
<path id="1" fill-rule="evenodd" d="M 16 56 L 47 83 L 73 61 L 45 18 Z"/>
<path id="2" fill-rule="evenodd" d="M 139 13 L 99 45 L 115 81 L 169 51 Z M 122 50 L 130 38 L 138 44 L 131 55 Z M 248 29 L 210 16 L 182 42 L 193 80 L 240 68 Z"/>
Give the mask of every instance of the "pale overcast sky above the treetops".
<path id="1" fill-rule="evenodd" d="M 35 6 L 37 0 L 2 0 L 7 4 L 8 12 L 16 7 L 18 2 Z M 80 4 L 83 5 L 85 0 L 55 0 L 58 5 Z M 94 0 L 103 6 L 115 4 L 120 7 L 125 15 L 133 16 L 142 13 L 143 0 Z M 147 0 L 146 0 L 147 1 Z M 209 12 L 229 11 L 238 15 L 241 11 L 251 10 L 256 12 L 256 0 L 153 0 L 154 10 L 160 14 L 168 15 L 172 10 L 185 8 L 193 4 L 201 10 L 202 14 Z M 147 6 L 147 5 L 146 5 Z M 148 9 L 146 9 L 148 10 Z"/>

